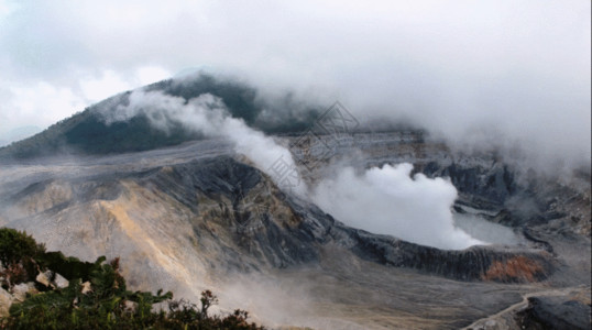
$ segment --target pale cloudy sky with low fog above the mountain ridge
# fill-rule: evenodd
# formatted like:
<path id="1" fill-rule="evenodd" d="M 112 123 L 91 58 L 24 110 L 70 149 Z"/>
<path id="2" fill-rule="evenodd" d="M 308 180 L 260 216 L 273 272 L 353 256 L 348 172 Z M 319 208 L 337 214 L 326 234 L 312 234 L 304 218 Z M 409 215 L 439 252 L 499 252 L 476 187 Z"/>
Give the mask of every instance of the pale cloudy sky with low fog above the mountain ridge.
<path id="1" fill-rule="evenodd" d="M 0 143 L 193 69 L 590 162 L 590 1 L 0 0 Z"/>

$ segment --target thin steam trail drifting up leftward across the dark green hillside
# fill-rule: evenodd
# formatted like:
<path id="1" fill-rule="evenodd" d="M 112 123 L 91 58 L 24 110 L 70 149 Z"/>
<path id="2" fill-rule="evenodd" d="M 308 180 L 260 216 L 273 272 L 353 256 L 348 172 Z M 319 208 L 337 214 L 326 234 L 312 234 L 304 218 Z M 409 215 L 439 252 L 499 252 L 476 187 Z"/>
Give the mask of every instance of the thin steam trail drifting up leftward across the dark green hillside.
<path id="1" fill-rule="evenodd" d="M 141 90 L 130 95 L 128 106 L 118 107 L 117 111 L 102 113 L 107 123 L 127 121 L 143 113 L 151 124 L 164 132 L 169 132 L 172 125 L 184 128 L 212 138 L 226 138 L 234 143 L 239 153 L 249 157 L 263 172 L 282 158 L 286 166 L 295 168 L 289 151 L 276 144 L 272 138 L 249 128 L 244 121 L 229 116 L 228 110 L 218 97 L 210 94 L 200 95 L 185 101 L 184 98 L 172 97 L 160 91 L 144 92 Z M 274 177 L 281 188 L 283 180 Z M 298 182 L 302 179 L 298 178 Z M 290 187 L 294 193 L 303 195 L 306 187 Z"/>

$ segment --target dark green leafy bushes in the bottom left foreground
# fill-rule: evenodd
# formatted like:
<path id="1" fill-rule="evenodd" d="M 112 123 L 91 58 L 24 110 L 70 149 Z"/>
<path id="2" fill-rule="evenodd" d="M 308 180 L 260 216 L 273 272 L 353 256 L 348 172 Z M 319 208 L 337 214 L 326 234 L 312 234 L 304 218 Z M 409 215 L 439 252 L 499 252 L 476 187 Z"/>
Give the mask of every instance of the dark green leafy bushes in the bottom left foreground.
<path id="1" fill-rule="evenodd" d="M 172 293 L 131 292 L 120 274 L 119 258 L 106 263 L 101 256 L 88 263 L 46 252 L 32 237 L 13 229 L 0 229 L 0 260 L 2 286 L 9 292 L 35 280 L 40 273 L 53 274 L 51 283 L 35 280 L 34 293 L 12 304 L 10 315 L 0 319 L 0 329 L 263 329 L 248 322 L 243 310 L 209 315 L 218 302 L 209 290 L 201 293 L 199 308 L 172 300 Z M 54 284 L 56 274 L 68 280 L 67 286 Z"/>

